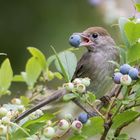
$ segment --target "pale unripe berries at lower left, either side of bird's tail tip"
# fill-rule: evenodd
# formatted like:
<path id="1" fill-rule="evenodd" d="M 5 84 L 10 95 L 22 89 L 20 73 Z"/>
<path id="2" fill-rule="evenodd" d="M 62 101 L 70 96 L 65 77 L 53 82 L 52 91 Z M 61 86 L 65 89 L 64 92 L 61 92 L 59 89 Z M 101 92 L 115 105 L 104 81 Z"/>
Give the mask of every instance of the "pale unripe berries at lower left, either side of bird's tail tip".
<path id="1" fill-rule="evenodd" d="M 19 98 L 13 98 L 11 104 L 4 104 L 0 107 L 0 136 L 5 136 L 12 128 L 12 120 L 25 111 L 25 106 Z M 42 110 L 38 109 L 28 116 L 28 120 L 37 119 L 43 115 Z M 14 126 L 13 126 L 14 127 Z"/>

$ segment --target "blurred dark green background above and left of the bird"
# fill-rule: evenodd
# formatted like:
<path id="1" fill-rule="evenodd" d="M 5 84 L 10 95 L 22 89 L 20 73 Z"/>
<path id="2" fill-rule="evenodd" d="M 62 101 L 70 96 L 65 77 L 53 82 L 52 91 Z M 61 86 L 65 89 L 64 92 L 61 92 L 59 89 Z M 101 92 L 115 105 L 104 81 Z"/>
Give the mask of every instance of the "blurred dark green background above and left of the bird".
<path id="1" fill-rule="evenodd" d="M 73 32 L 90 26 L 104 26 L 114 32 L 116 28 L 104 23 L 99 4 L 88 0 L 1 1 L 0 52 L 7 53 L 17 74 L 24 70 L 28 46 L 39 48 L 48 57 L 53 53 L 50 45 L 58 52 L 69 48 Z"/>

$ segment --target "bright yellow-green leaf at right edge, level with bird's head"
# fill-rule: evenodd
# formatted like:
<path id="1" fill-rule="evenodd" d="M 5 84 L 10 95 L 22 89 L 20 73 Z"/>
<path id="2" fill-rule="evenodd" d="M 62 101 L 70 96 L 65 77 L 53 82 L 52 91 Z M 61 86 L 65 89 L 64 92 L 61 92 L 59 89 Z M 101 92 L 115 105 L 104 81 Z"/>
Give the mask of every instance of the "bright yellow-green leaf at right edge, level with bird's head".
<path id="1" fill-rule="evenodd" d="M 134 45 L 140 38 L 140 24 L 129 21 L 124 26 L 126 37 L 131 45 Z"/>

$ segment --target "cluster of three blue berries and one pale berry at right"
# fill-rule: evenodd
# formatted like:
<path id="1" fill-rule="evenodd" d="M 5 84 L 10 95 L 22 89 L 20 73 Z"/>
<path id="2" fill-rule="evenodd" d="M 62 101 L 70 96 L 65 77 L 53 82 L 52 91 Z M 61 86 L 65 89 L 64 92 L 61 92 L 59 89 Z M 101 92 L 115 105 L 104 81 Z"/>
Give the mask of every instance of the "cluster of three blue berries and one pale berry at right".
<path id="1" fill-rule="evenodd" d="M 116 84 L 130 85 L 132 80 L 138 80 L 139 70 L 137 68 L 131 67 L 129 64 L 123 64 L 120 66 L 118 72 L 114 73 L 113 79 Z"/>

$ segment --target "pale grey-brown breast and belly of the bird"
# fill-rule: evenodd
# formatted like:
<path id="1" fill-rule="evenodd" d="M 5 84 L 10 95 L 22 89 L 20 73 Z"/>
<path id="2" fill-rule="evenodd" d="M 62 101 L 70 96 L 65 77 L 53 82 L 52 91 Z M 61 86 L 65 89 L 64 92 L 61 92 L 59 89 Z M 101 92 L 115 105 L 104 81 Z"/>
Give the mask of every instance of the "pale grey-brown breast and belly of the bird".
<path id="1" fill-rule="evenodd" d="M 85 77 L 91 79 L 89 89 L 94 91 L 98 97 L 101 97 L 108 91 L 113 83 L 112 75 L 115 66 L 109 63 L 109 61 L 117 61 L 117 58 L 101 52 L 89 54 L 88 58 L 85 64 Z"/>

